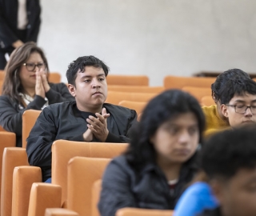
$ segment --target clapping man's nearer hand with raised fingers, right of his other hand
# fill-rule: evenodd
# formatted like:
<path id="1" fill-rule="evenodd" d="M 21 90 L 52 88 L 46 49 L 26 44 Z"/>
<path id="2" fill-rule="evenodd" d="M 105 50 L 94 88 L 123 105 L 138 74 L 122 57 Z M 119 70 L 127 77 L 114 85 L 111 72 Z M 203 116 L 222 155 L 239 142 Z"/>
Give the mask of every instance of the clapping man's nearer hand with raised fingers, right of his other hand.
<path id="1" fill-rule="evenodd" d="M 109 130 L 107 129 L 106 118 L 110 116 L 110 114 L 106 113 L 106 108 L 102 109 L 102 114 L 95 114 L 97 118 L 90 115 L 89 118 L 86 119 L 86 122 L 89 124 L 88 129 L 92 131 L 94 136 L 98 138 L 100 141 L 105 142 L 107 135 L 109 134 Z"/>

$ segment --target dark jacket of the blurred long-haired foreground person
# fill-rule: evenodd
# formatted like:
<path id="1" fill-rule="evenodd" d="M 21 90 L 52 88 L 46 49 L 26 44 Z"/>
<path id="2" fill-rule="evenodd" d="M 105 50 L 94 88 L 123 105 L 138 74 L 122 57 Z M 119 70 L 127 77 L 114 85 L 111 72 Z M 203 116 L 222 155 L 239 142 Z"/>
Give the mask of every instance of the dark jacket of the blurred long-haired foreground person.
<path id="1" fill-rule="evenodd" d="M 100 214 L 114 216 L 118 209 L 125 207 L 174 210 L 186 184 L 197 170 L 194 159 L 184 163 L 177 185 L 170 189 L 165 174 L 156 164 L 147 164 L 138 171 L 130 166 L 126 156 L 114 158 L 102 178 L 98 203 Z"/>

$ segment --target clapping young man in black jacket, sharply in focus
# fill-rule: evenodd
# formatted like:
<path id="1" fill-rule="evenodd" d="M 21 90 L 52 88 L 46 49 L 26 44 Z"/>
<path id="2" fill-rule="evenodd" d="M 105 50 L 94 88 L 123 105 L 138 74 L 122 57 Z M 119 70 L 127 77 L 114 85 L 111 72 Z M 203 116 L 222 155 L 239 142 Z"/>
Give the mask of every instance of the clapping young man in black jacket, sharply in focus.
<path id="1" fill-rule="evenodd" d="M 94 56 L 83 56 L 66 71 L 75 102 L 47 106 L 27 138 L 31 166 L 40 166 L 43 181 L 50 182 L 51 146 L 55 140 L 80 142 L 129 142 L 130 127 L 137 122 L 135 110 L 104 103 L 108 67 Z"/>

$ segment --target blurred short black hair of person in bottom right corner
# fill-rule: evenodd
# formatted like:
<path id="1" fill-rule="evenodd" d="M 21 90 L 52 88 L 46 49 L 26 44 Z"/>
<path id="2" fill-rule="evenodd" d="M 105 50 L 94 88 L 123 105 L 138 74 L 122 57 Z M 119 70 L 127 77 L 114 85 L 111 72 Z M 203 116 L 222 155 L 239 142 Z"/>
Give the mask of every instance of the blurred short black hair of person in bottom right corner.
<path id="1" fill-rule="evenodd" d="M 202 170 L 210 178 L 229 180 L 240 169 L 256 167 L 256 125 L 214 134 L 202 146 Z"/>

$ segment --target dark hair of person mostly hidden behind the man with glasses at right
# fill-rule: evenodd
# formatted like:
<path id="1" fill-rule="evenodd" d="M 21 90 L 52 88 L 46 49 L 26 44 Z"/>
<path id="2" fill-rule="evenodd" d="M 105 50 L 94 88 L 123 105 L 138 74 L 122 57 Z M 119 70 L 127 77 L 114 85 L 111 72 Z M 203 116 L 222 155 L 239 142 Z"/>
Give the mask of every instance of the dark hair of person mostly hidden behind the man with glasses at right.
<path id="1" fill-rule="evenodd" d="M 250 75 L 238 68 L 226 70 L 222 74 L 219 74 L 215 82 L 211 84 L 212 94 L 214 94 L 215 99 L 217 101 L 221 97 L 221 91 L 223 87 L 225 88 L 226 82 L 229 81 L 230 78 L 235 78 L 235 77 L 250 78 Z"/>

